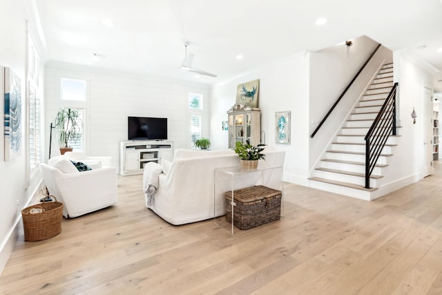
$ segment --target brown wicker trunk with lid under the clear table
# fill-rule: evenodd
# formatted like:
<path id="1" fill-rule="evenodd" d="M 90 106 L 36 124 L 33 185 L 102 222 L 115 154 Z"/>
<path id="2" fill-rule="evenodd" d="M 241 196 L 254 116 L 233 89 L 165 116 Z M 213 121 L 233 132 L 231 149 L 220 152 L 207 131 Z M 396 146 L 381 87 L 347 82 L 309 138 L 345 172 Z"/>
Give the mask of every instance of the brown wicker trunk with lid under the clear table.
<path id="1" fill-rule="evenodd" d="M 232 192 L 226 197 L 226 220 L 232 222 Z M 281 216 L 282 193 L 262 185 L 233 191 L 236 206 L 233 208 L 233 225 L 240 229 L 249 229 L 258 225 L 278 220 Z"/>

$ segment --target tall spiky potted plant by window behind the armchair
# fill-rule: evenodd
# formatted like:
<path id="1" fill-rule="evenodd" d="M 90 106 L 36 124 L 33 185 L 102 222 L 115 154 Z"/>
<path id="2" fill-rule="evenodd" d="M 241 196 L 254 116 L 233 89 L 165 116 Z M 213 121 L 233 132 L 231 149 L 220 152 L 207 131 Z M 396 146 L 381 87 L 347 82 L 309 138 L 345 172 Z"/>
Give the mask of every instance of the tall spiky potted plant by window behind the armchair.
<path id="1" fill-rule="evenodd" d="M 59 131 L 58 141 L 61 155 L 66 151 L 72 151 L 73 148 L 68 146 L 68 142 L 81 138 L 83 122 L 80 110 L 81 108 L 61 108 L 55 117 L 55 128 Z"/>

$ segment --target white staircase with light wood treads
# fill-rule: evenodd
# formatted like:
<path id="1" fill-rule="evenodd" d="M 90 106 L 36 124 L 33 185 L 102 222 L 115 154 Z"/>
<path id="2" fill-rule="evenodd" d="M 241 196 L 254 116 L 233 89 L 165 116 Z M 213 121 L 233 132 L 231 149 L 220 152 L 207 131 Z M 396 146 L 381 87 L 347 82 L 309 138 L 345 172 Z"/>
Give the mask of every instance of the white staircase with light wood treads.
<path id="1" fill-rule="evenodd" d="M 390 135 L 370 177 L 370 188 L 365 189 L 365 140 L 370 126 L 393 88 L 393 64 L 381 67 L 376 78 L 359 100 L 331 149 L 309 178 L 309 186 L 340 193 L 363 200 L 376 198 L 376 189 L 382 183 L 383 172 L 392 157 L 396 136 Z"/>

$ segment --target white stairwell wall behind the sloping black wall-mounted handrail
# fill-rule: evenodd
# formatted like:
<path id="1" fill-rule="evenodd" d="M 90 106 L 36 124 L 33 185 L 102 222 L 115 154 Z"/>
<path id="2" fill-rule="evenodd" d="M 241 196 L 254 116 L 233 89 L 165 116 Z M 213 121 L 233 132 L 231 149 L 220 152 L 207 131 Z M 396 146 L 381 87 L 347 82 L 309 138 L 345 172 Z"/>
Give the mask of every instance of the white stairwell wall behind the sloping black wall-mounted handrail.
<path id="1" fill-rule="evenodd" d="M 358 73 L 378 44 L 362 36 L 353 40 L 352 46 L 338 44 L 311 53 L 310 57 L 310 135 L 333 106 L 345 87 Z M 383 62 L 392 62 L 390 50 L 381 46 L 376 55 L 365 66 L 363 72 L 340 100 L 318 133 L 311 138 L 309 167 L 314 169 L 318 160 L 334 138 L 336 131 L 347 120 L 359 97 L 371 82 Z"/>

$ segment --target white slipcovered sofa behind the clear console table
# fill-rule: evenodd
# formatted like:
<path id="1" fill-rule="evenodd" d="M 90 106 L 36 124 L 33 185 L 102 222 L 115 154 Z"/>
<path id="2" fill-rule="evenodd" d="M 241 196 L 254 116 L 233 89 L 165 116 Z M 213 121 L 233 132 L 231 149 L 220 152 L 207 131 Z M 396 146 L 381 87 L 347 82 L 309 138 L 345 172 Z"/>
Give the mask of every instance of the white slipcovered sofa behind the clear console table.
<path id="1" fill-rule="evenodd" d="M 260 160 L 258 169 L 284 164 L 284 151 L 265 149 L 266 160 Z M 145 193 L 146 207 L 173 225 L 206 220 L 225 214 L 224 192 L 230 188 L 228 179 L 217 179 L 215 191 L 215 169 L 240 166 L 238 155 L 233 150 L 200 151 L 177 149 L 173 162 L 162 163 L 163 173 L 158 177 L 158 188 L 155 200 L 148 205 L 148 195 Z M 281 183 L 282 168 L 269 176 L 267 183 Z M 144 191 L 146 191 L 148 176 L 144 173 Z M 228 183 L 226 183 L 228 182 Z M 244 186 L 257 183 L 256 177 L 242 182 Z M 219 184 L 219 185 L 218 185 Z M 227 186 L 226 186 L 227 184 Z M 264 183 L 265 184 L 265 183 Z M 238 189 L 237 187 L 235 189 Z M 215 208 L 216 204 L 216 208 Z"/>

